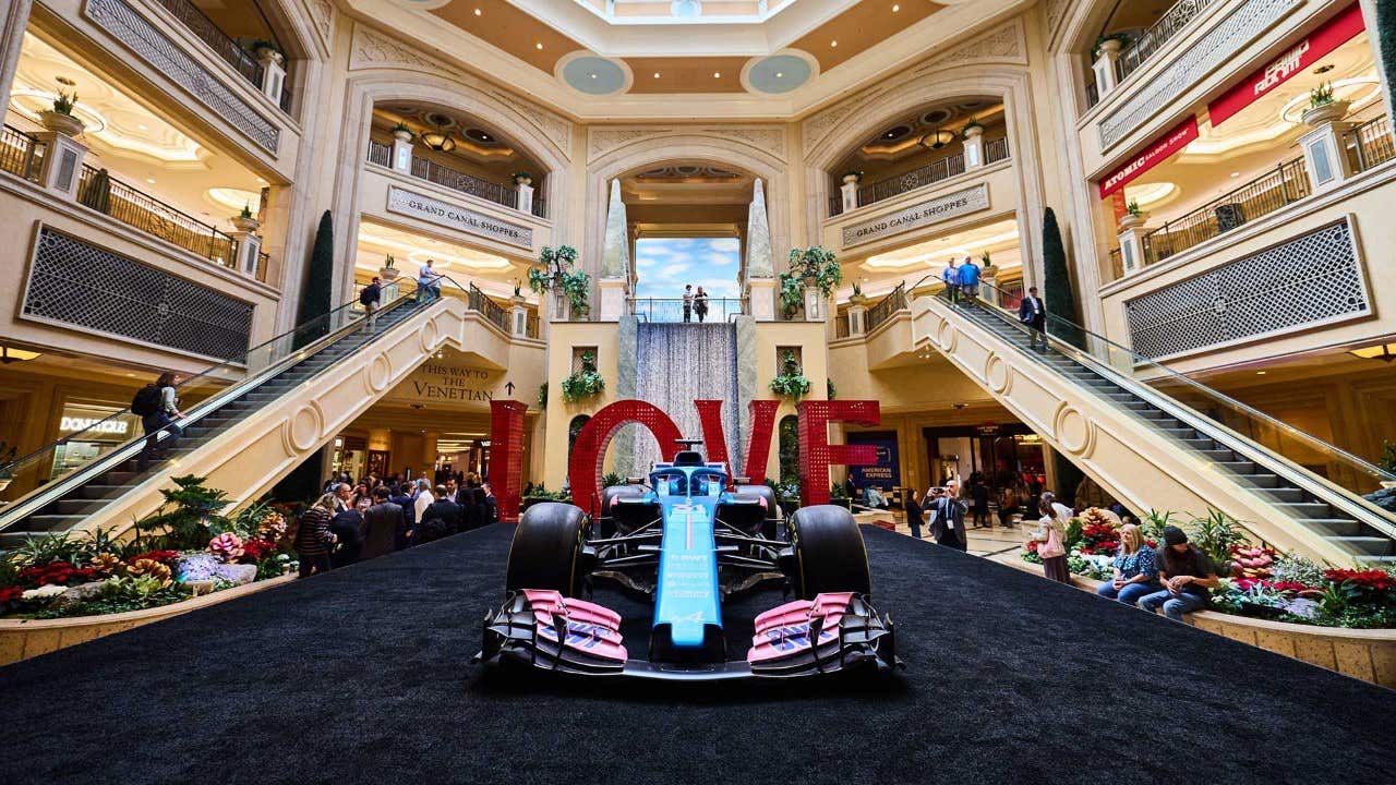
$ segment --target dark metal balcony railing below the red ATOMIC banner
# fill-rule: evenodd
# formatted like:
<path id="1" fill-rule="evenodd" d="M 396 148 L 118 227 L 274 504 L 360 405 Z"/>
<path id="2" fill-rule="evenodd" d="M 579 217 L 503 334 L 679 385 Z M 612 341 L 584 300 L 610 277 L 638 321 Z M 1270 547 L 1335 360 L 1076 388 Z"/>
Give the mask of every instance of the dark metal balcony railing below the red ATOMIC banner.
<path id="1" fill-rule="evenodd" d="M 1219 237 L 1312 193 L 1304 159 L 1286 161 L 1261 177 L 1220 196 L 1143 236 L 1143 264 Z"/>

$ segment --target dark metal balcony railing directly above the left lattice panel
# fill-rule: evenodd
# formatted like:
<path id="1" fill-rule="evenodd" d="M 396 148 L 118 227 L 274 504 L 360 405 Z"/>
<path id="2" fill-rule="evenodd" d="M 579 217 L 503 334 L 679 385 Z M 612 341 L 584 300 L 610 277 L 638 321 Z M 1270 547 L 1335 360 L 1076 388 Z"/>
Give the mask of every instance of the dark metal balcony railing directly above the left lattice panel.
<path id="1" fill-rule="evenodd" d="M 237 267 L 237 240 L 116 177 L 84 163 L 78 203 L 223 267 Z"/>

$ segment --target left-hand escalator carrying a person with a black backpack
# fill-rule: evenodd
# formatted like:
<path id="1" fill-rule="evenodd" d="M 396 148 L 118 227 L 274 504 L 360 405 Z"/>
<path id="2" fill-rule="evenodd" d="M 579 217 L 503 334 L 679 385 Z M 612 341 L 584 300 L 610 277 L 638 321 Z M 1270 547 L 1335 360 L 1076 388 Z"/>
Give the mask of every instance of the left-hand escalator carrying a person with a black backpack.
<path id="1" fill-rule="evenodd" d="M 200 404 L 184 409 L 186 418 L 176 423 L 183 434 L 173 443 L 169 443 L 172 434 L 158 436 L 161 447 L 169 447 L 145 471 L 138 467 L 145 446 L 145 437 L 141 436 L 113 444 L 95 461 L 45 482 L 49 467 L 54 465 L 54 455 L 60 454 L 64 444 L 81 441 L 89 433 L 101 433 L 107 423 L 130 423 L 135 415 L 128 409 L 0 467 L 0 476 L 34 478 L 31 485 L 36 486 L 0 507 L 0 548 L 14 546 L 31 536 L 128 525 L 134 517 L 149 514 L 159 506 L 158 486 L 163 485 L 166 476 L 188 474 L 188 469 L 198 467 L 200 461 L 195 458 L 209 450 L 218 451 L 219 446 L 211 447 L 215 440 L 246 426 L 258 412 L 286 395 L 317 384 L 325 372 L 364 362 L 369 359 L 366 355 L 370 355 L 367 349 L 371 348 L 374 355 L 384 351 L 383 345 L 392 342 L 385 341 L 385 337 L 396 338 L 399 344 L 403 335 L 415 338 L 422 331 L 422 324 L 451 307 L 463 311 L 459 300 L 419 303 L 416 295 L 410 293 L 392 299 L 373 318 L 367 318 L 355 302 L 181 381 L 177 392 L 209 384 L 219 387 Z M 399 365 L 420 362 L 430 356 L 430 351 L 434 346 L 422 346 L 417 352 L 420 359 L 413 356 Z M 378 362 L 383 362 L 381 356 Z M 318 444 L 314 447 L 318 448 Z M 222 448 L 226 448 L 226 443 Z M 307 447 L 302 451 L 313 450 Z M 228 455 L 219 460 L 226 461 Z M 236 499 L 244 496 L 246 489 L 223 490 Z M 151 500 L 155 500 L 154 507 Z"/>

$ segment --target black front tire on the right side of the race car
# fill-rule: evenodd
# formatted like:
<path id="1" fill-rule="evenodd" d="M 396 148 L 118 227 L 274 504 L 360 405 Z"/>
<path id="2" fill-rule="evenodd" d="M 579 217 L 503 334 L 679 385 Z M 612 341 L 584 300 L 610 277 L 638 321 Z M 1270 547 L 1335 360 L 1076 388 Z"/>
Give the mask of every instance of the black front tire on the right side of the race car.
<path id="1" fill-rule="evenodd" d="M 835 504 L 801 507 L 790 515 L 787 531 L 794 546 L 790 578 L 800 599 L 843 591 L 871 596 L 868 555 L 852 513 Z"/>

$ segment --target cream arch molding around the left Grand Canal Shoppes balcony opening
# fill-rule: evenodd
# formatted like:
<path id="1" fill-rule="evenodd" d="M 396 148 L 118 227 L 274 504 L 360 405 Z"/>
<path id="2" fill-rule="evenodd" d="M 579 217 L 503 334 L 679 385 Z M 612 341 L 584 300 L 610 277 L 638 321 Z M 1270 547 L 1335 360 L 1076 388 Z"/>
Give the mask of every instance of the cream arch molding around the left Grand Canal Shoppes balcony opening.
<path id="1" fill-rule="evenodd" d="M 355 52 L 359 52 L 357 46 Z M 405 50 L 406 52 L 406 50 Z M 434 103 L 447 109 L 469 113 L 491 124 L 508 135 L 529 156 L 547 169 L 544 198 L 549 201 L 549 218 L 553 225 L 553 242 L 563 242 L 570 204 L 568 193 L 570 158 L 567 148 L 558 145 L 543 129 L 519 112 L 517 96 L 497 92 L 490 85 L 458 74 L 436 74 L 412 71 L 406 74 L 398 66 L 367 67 L 352 71 L 345 84 L 345 110 L 338 144 L 339 161 L 335 166 L 334 215 L 346 217 L 335 222 L 335 247 L 345 249 L 343 268 L 338 271 L 335 302 L 345 300 L 353 291 L 353 263 L 357 253 L 359 217 L 363 207 L 359 203 L 360 182 L 366 166 L 364 151 L 369 148 L 369 130 L 376 103 L 384 101 L 408 101 Z M 567 134 L 571 124 L 567 123 Z M 564 138 L 565 141 L 565 138 Z"/>

